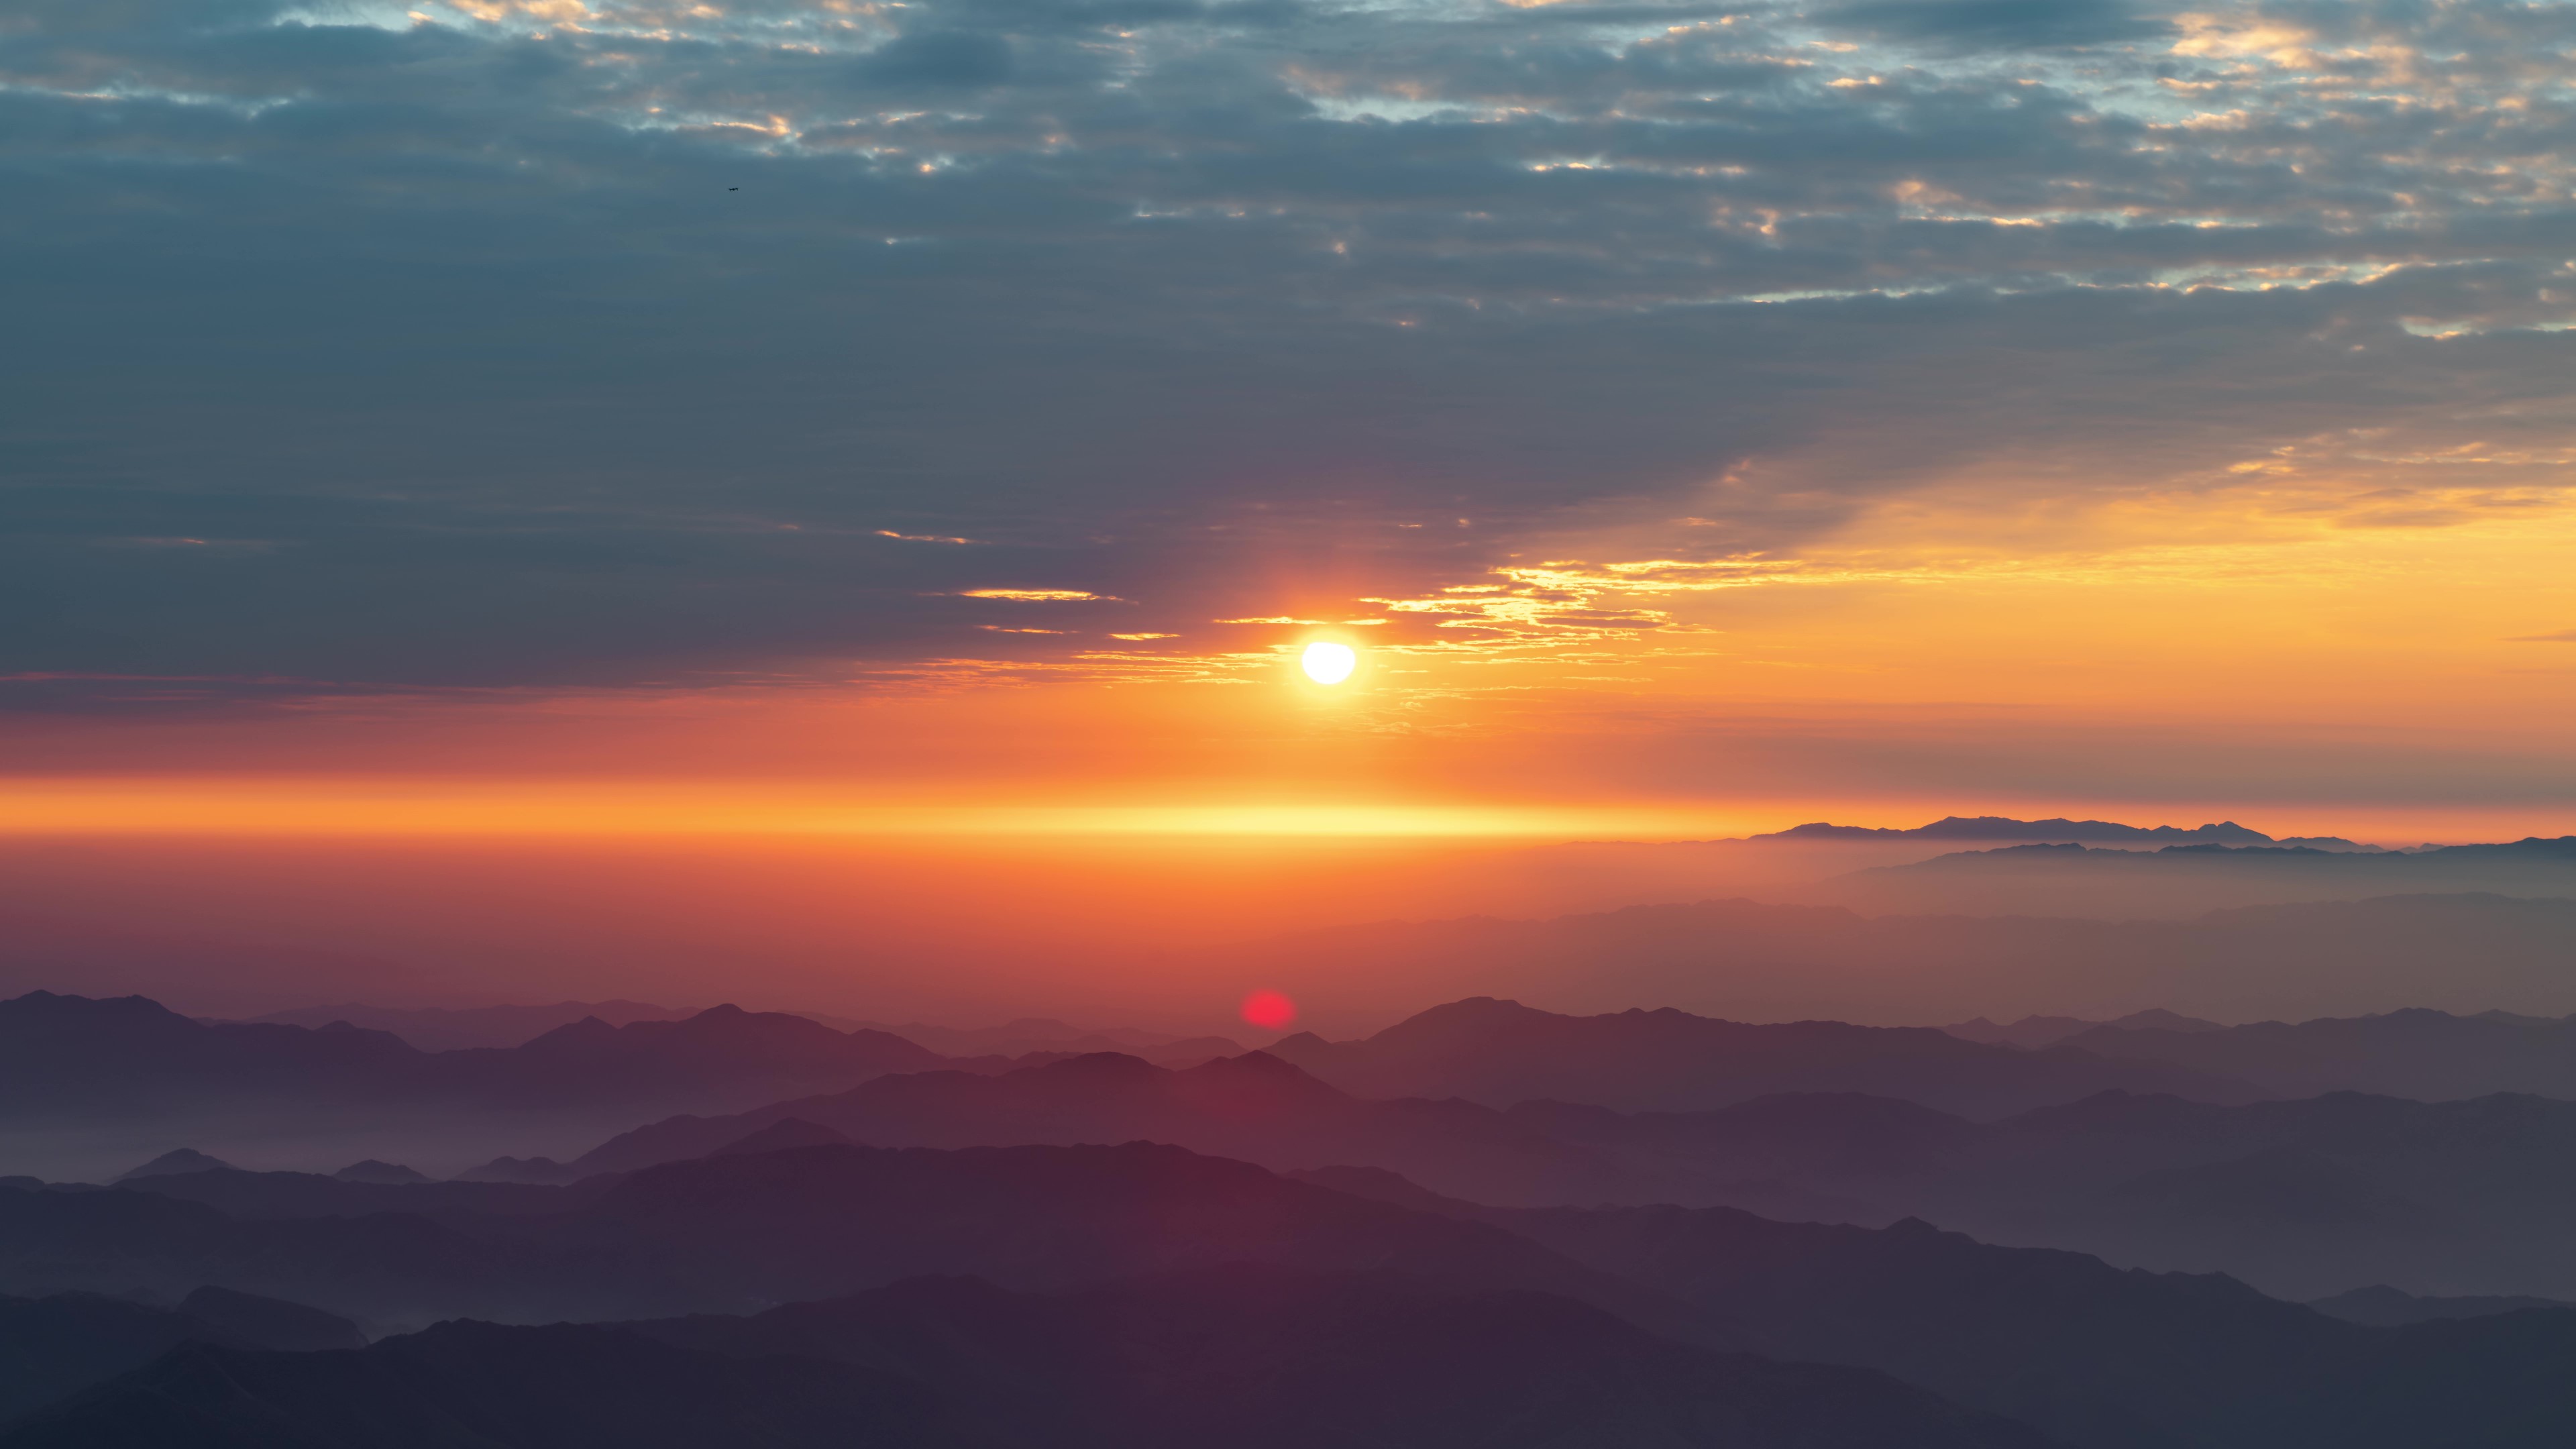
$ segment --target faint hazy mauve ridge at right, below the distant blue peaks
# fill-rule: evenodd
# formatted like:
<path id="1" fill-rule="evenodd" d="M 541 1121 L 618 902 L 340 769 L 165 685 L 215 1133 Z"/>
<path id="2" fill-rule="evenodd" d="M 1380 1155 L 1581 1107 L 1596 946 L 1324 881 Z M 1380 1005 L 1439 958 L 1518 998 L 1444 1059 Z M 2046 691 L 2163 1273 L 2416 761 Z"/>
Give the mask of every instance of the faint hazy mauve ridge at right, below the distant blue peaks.
<path id="1" fill-rule="evenodd" d="M 2370 856 L 2378 859 L 2378 856 Z M 1937 1024 L 2025 1013 L 2306 1021 L 2403 1008 L 2576 1013 L 2576 900 L 2401 895 L 2190 920 L 1862 915 L 1703 900 L 1548 920 L 1427 920 L 1244 946 L 1236 969 L 1376 1029 L 1414 990 L 1548 1011 L 1641 1000 L 1734 1021 Z"/>

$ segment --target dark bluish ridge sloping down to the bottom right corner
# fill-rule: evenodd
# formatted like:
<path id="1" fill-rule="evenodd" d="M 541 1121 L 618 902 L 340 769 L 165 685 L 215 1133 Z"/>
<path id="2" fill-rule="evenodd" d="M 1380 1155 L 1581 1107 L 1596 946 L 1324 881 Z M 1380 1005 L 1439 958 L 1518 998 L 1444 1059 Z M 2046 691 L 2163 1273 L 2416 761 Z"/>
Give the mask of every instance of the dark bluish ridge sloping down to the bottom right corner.
<path id="1" fill-rule="evenodd" d="M 2200 1274 L 1736 1209 L 1486 1209 L 1383 1173 L 1347 1191 L 1497 1222 L 1654 1281 L 1765 1354 L 1868 1364 L 2084 1446 L 2540 1446 L 2576 1431 L 2576 1310 L 2365 1328 Z M 2553 1369 L 2555 1364 L 2555 1369 Z"/>

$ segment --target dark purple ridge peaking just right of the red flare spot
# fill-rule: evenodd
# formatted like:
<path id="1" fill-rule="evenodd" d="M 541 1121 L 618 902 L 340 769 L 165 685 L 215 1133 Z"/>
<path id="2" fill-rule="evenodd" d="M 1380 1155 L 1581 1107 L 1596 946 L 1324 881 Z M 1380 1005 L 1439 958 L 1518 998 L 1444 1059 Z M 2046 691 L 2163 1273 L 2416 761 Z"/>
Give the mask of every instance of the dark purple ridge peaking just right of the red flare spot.
<path id="1" fill-rule="evenodd" d="M 1790 1021 L 1757 1026 L 1687 1011 L 1558 1016 L 1468 998 L 1363 1042 L 1285 1036 L 1270 1055 L 1358 1096 L 1530 1098 L 1618 1109 L 1710 1109 L 1783 1091 L 1857 1091 L 1971 1116 L 2002 1116 L 2097 1091 L 2246 1101 L 2259 1091 L 2202 1073 L 2141 1075 L 2089 1052 L 2014 1052 L 1919 1026 Z"/>

